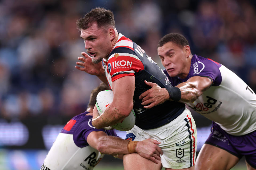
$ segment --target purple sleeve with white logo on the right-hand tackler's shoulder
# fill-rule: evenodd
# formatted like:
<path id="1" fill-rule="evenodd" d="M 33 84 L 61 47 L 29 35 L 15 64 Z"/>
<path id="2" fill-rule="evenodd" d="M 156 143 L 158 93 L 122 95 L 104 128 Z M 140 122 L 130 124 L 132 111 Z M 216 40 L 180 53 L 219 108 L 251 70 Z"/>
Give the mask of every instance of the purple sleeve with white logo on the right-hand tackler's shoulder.
<path id="1" fill-rule="evenodd" d="M 219 71 L 220 66 L 221 64 L 209 59 L 194 62 L 190 70 L 190 77 L 209 77 L 212 80 L 213 86 L 219 86 L 222 80 L 221 72 Z"/>

